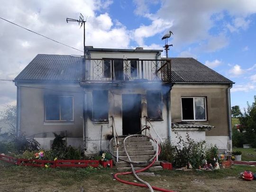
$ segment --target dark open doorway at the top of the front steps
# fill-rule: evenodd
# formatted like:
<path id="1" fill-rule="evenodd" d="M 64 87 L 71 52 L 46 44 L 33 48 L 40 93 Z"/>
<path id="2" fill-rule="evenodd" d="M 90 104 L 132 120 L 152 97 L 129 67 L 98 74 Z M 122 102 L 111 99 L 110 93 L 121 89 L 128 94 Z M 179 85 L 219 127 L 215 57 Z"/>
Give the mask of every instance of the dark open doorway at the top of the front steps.
<path id="1" fill-rule="evenodd" d="M 136 134 L 141 130 L 141 95 L 122 95 L 123 135 Z"/>

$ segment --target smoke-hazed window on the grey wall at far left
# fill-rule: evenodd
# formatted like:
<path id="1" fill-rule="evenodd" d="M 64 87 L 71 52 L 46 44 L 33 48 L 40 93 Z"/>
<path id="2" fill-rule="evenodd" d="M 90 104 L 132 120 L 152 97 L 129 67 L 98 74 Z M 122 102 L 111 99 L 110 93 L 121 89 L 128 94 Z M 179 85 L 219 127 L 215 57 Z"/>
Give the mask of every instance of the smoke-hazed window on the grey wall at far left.
<path id="1" fill-rule="evenodd" d="M 73 96 L 45 96 L 46 121 L 73 121 Z"/>

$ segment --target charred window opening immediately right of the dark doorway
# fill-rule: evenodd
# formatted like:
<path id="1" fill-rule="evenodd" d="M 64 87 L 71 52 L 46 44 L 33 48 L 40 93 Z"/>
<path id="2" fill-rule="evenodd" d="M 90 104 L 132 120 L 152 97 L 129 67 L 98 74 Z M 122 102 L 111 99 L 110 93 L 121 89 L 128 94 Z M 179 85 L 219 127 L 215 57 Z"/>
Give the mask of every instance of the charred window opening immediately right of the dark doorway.
<path id="1" fill-rule="evenodd" d="M 147 91 L 147 117 L 150 121 L 162 121 L 162 93 L 161 91 Z"/>

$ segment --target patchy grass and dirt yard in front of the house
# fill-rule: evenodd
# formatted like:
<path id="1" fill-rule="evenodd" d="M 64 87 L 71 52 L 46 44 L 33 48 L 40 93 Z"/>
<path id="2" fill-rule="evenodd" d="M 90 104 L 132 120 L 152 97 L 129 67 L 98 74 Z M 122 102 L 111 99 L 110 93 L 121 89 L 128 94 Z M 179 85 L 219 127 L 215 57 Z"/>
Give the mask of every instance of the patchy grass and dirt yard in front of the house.
<path id="1" fill-rule="evenodd" d="M 244 170 L 256 172 L 256 167 L 232 166 L 215 171 L 157 171 L 155 176 L 141 176 L 150 184 L 183 192 L 244 191 L 254 192 L 256 181 L 238 178 Z M 13 166 L 0 161 L 1 192 L 145 192 L 146 188 L 113 181 L 110 173 L 116 169 L 52 168 Z M 128 181 L 132 175 L 123 175 Z M 138 182 L 139 183 L 139 182 Z"/>

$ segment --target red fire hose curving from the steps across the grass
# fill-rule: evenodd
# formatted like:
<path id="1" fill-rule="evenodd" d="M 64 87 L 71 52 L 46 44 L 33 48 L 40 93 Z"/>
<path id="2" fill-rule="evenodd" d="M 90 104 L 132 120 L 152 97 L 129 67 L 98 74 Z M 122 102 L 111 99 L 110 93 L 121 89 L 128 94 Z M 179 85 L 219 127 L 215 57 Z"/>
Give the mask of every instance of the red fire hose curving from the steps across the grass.
<path id="1" fill-rule="evenodd" d="M 158 150 L 158 155 L 159 155 L 159 154 L 160 154 L 160 151 L 161 151 L 161 148 L 160 148 L 159 145 L 158 145 L 158 148 L 159 148 L 159 150 Z M 144 167 L 144 168 L 142 168 L 142 169 L 139 169 L 139 170 L 137 170 L 137 171 L 135 171 L 135 172 L 136 172 L 136 173 L 139 173 L 139 172 L 145 171 L 146 169 L 148 169 L 149 167 L 151 167 L 151 166 L 155 163 L 155 160 L 156 160 L 156 157 L 155 157 L 155 159 L 153 159 L 153 161 L 152 161 L 148 166 L 146 166 L 146 167 Z M 116 173 L 116 174 L 114 175 L 114 178 L 115 178 L 116 180 L 118 180 L 119 182 L 124 183 L 124 184 L 131 184 L 131 185 L 135 185 L 135 186 L 139 186 L 139 187 L 146 187 L 146 188 L 148 188 L 148 186 L 147 186 L 146 184 L 137 184 L 137 183 L 134 183 L 134 182 L 129 182 L 129 181 L 122 180 L 122 179 L 118 178 L 118 175 L 128 175 L 128 174 L 131 174 L 131 173 L 132 173 L 131 171 L 129 171 L 129 172 Z M 159 188 L 159 187 L 155 187 L 155 186 L 152 186 L 152 188 L 153 188 L 154 190 L 157 190 L 157 191 L 160 191 L 160 192 L 174 192 L 174 191 L 172 191 L 172 190 L 163 189 L 163 188 Z"/>

